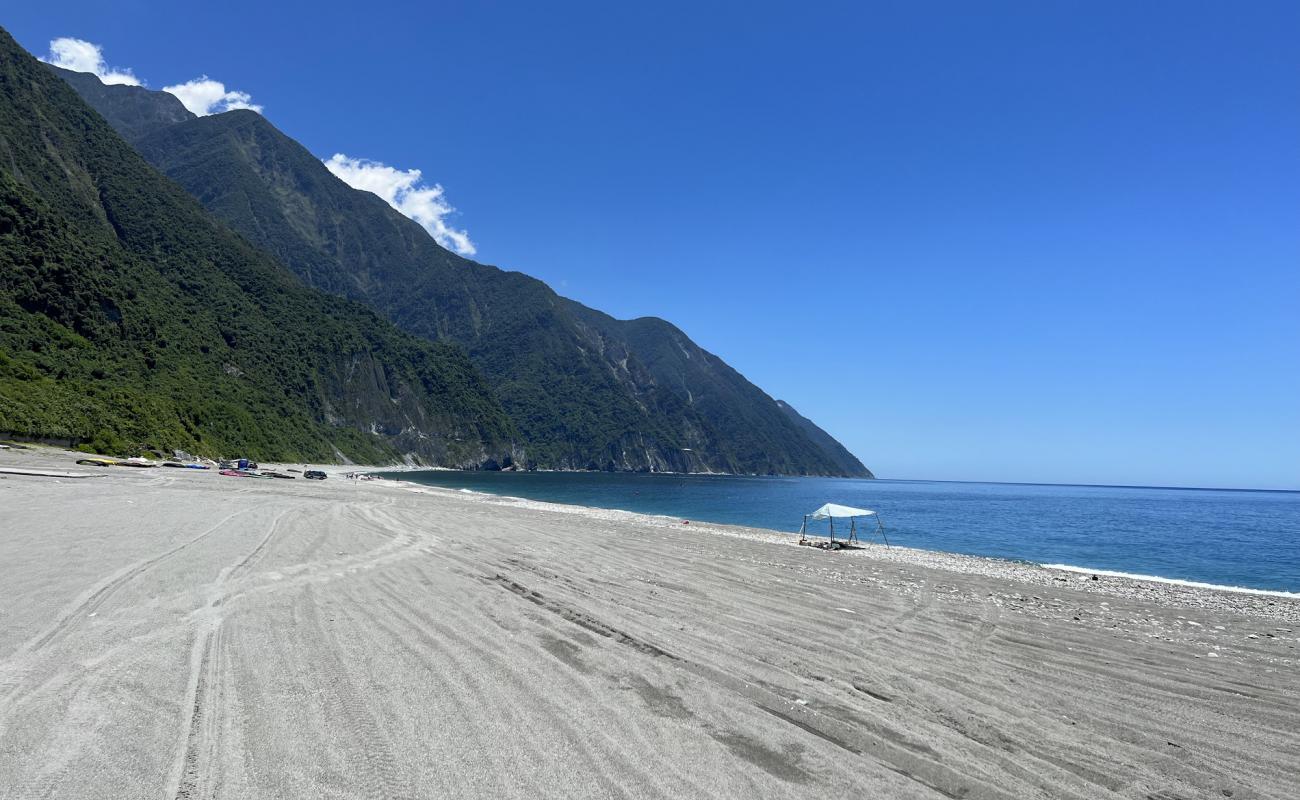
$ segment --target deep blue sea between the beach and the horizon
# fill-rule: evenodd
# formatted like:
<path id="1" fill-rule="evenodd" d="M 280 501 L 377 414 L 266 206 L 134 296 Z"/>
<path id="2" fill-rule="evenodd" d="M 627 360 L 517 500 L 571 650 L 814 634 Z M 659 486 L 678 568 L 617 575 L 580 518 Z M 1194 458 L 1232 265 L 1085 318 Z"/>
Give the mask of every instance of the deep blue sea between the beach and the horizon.
<path id="1" fill-rule="evenodd" d="M 1300 492 L 415 471 L 389 477 L 549 502 L 797 532 L 827 502 L 872 509 L 893 545 L 1239 589 L 1300 592 Z M 862 533 L 880 541 L 872 520 Z M 836 533 L 844 532 L 836 522 Z M 826 523 L 810 523 L 826 536 Z"/>

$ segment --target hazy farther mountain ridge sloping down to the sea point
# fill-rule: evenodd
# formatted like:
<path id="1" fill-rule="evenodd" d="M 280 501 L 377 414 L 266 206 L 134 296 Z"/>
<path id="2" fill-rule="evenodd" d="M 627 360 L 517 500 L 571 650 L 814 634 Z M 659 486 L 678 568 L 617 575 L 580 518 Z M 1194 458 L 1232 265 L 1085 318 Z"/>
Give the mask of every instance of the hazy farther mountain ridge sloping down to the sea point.
<path id="1" fill-rule="evenodd" d="M 148 108 L 87 78 L 70 83 L 151 164 L 304 282 L 464 346 L 530 464 L 870 476 L 673 325 L 616 320 L 445 250 L 260 114 L 176 120 L 165 92 Z"/>

